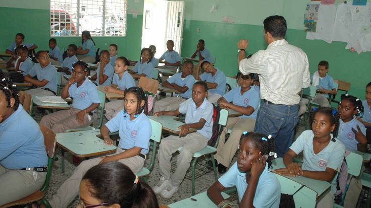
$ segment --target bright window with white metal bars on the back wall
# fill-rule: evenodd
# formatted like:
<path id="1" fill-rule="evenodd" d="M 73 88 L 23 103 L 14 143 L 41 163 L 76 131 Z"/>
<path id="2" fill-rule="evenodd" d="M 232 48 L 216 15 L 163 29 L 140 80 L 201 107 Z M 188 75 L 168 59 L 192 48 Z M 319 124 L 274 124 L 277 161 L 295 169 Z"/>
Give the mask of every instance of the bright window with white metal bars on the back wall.
<path id="1" fill-rule="evenodd" d="M 50 0 L 50 36 L 125 36 L 126 0 Z"/>

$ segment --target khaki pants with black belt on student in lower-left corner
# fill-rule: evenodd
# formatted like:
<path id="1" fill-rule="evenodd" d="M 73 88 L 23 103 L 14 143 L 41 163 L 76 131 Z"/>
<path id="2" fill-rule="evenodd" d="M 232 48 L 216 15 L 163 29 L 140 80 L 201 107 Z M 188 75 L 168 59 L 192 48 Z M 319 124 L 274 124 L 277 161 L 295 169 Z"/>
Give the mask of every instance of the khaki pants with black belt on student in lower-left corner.
<path id="1" fill-rule="evenodd" d="M 39 190 L 46 172 L 11 170 L 0 165 L 0 205 L 24 198 Z"/>

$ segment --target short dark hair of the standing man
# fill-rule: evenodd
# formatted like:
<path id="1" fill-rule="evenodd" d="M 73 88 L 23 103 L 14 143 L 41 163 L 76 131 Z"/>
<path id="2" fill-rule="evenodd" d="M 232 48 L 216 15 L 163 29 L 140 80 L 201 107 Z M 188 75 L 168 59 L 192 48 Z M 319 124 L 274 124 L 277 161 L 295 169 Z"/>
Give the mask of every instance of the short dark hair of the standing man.
<path id="1" fill-rule="evenodd" d="M 274 38 L 284 38 L 286 35 L 286 20 L 282 16 L 274 15 L 263 21 L 265 32 L 269 32 Z"/>

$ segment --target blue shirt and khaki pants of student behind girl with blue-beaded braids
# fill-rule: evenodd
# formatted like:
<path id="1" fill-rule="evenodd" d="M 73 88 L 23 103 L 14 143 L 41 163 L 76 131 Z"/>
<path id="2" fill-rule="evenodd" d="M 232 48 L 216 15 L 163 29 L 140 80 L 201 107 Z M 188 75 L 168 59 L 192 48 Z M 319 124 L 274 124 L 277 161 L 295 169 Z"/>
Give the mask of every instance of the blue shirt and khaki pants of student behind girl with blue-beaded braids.
<path id="1" fill-rule="evenodd" d="M 118 74 L 113 75 L 112 84 L 117 85 L 120 90 L 126 90 L 127 88 L 135 87 L 135 81 L 133 77 L 125 71 L 121 79 L 119 79 Z M 105 104 L 104 114 L 108 120 L 111 120 L 116 114 L 116 111 L 124 109 L 123 100 L 114 100 Z"/>

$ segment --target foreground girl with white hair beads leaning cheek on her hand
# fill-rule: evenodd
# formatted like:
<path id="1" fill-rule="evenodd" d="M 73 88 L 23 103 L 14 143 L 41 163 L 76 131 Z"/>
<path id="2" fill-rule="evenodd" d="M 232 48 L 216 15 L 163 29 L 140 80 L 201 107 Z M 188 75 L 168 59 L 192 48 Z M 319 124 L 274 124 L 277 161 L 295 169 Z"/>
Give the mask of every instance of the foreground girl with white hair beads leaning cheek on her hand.
<path id="1" fill-rule="evenodd" d="M 237 162 L 207 189 L 217 207 L 235 207 L 221 191 L 236 186 L 239 207 L 278 207 L 281 186 L 268 169 L 276 154 L 274 140 L 261 133 L 244 131 L 238 146 Z"/>

